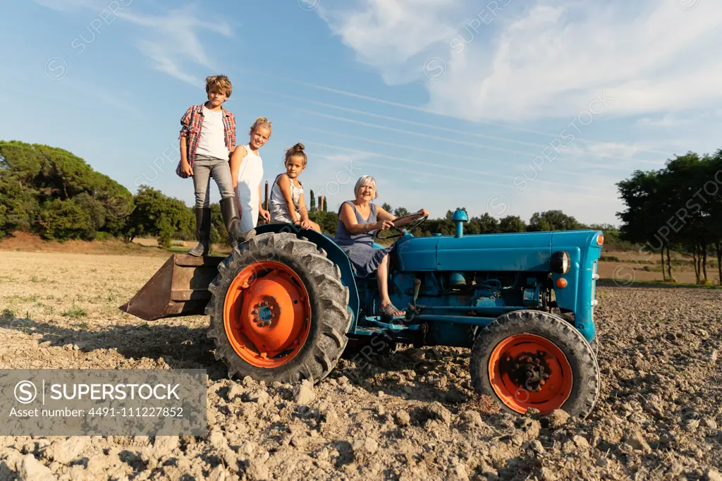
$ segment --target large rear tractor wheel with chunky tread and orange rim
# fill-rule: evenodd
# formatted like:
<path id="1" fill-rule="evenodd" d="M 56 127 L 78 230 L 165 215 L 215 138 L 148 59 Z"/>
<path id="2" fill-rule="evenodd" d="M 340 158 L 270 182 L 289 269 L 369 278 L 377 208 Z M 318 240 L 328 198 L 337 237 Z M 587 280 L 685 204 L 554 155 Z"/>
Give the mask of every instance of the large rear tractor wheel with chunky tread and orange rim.
<path id="1" fill-rule="evenodd" d="M 218 266 L 208 337 L 230 376 L 319 381 L 347 345 L 352 321 L 341 271 L 316 244 L 265 233 Z"/>

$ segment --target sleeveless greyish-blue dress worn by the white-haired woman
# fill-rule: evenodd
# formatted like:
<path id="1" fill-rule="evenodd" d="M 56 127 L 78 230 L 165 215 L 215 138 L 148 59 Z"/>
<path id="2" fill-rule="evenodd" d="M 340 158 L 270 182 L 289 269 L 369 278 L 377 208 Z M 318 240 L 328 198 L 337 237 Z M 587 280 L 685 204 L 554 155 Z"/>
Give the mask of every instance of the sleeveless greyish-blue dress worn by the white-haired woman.
<path id="1" fill-rule="evenodd" d="M 364 219 L 356 206 L 349 201 L 349 204 L 356 213 L 356 222 L 359 224 L 373 224 L 376 220 L 376 205 L 371 205 L 371 213 L 367 219 Z M 343 207 L 343 204 L 342 204 Z M 387 254 L 391 254 L 396 243 L 387 248 L 375 248 L 373 246 L 373 235 L 376 231 L 370 230 L 367 233 L 352 235 L 341 220 L 341 209 L 339 208 L 339 223 L 336 226 L 336 238 L 334 239 L 339 247 L 346 253 L 351 261 L 351 267 L 356 277 L 368 277 L 376 272 L 379 264 Z"/>

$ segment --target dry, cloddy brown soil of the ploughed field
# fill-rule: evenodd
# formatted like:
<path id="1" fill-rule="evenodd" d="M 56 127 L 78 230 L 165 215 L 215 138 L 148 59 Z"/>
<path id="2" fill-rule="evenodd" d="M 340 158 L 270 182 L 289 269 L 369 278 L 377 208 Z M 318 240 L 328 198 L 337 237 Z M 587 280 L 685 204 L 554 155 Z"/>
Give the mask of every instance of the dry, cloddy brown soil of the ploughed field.
<path id="1" fill-rule="evenodd" d="M 207 433 L 0 436 L 0 480 L 722 480 L 719 290 L 599 287 L 596 408 L 539 419 L 475 399 L 456 348 L 227 379 L 207 317 L 118 311 L 163 261 L 0 252 L 0 368 L 205 368 Z"/>

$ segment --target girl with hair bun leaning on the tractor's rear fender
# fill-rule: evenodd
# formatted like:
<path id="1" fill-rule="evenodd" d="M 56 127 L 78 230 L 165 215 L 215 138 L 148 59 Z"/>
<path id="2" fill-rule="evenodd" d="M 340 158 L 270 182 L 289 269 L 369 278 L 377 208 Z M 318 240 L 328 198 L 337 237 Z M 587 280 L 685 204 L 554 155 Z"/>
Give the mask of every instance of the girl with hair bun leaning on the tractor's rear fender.
<path id="1" fill-rule="evenodd" d="M 303 183 L 298 176 L 306 168 L 308 157 L 300 142 L 286 151 L 283 164 L 286 172 L 277 175 L 271 188 L 271 222 L 274 224 L 295 224 L 303 229 L 321 232 L 316 222 L 308 219 L 308 211 L 303 200 Z"/>

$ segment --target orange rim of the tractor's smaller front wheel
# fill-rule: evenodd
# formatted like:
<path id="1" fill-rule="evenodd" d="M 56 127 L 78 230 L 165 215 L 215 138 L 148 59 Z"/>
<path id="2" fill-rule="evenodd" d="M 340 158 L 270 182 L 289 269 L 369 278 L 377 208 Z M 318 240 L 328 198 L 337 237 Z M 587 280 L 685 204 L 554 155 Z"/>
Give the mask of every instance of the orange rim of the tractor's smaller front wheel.
<path id="1" fill-rule="evenodd" d="M 572 392 L 572 367 L 557 345 L 536 334 L 516 334 L 492 351 L 489 380 L 510 410 L 542 415 L 559 409 Z"/>

